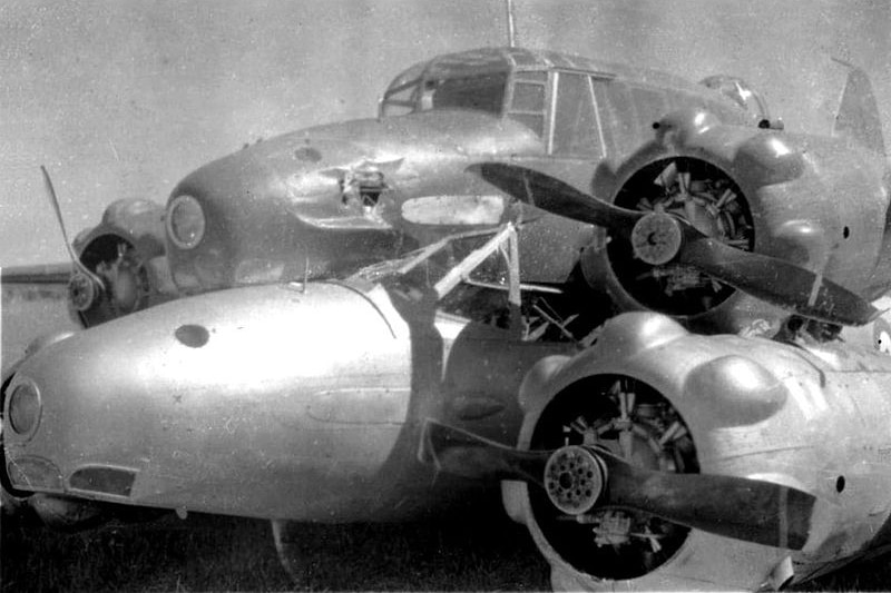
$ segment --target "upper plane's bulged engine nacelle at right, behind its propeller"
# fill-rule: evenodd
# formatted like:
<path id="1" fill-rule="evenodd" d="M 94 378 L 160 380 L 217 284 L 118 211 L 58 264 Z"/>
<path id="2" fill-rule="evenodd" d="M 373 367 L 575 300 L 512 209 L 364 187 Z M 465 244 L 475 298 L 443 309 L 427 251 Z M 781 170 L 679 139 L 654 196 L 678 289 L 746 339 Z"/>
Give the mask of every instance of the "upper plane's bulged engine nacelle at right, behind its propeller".
<path id="1" fill-rule="evenodd" d="M 598 171 L 596 195 L 676 215 L 709 237 L 824 274 L 869 299 L 887 289 L 873 274 L 889 205 L 878 155 L 836 138 L 723 125 L 697 109 L 670 113 L 654 128 L 654 140 L 617 171 Z M 620 310 L 655 310 L 696 329 L 733 333 L 784 317 L 696 269 L 649 266 L 627 241 L 598 233 L 581 268 Z"/>

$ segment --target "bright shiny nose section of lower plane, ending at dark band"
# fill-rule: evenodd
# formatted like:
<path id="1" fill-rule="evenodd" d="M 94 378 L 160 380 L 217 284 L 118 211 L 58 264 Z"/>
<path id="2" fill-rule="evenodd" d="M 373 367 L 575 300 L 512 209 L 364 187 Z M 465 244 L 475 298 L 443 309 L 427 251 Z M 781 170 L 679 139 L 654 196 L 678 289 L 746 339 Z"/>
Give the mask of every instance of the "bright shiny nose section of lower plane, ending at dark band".
<path id="1" fill-rule="evenodd" d="M 363 512 L 342 493 L 374 483 L 409 414 L 408 330 L 388 303 L 252 286 L 47 345 L 11 384 L 13 484 L 254 516 Z"/>

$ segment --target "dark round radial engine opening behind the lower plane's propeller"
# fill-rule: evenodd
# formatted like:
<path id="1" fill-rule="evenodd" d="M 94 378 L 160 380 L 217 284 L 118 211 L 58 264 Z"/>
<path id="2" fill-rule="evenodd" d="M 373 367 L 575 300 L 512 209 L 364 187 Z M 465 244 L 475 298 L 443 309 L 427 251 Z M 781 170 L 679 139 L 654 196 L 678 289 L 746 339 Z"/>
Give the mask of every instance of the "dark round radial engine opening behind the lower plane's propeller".
<path id="1" fill-rule="evenodd" d="M 555 462 L 552 487 L 546 478 L 547 492 L 530 488 L 529 500 L 542 535 L 564 561 L 595 577 L 618 580 L 643 576 L 674 556 L 691 530 L 646 513 L 597 505 L 603 476 L 596 463 L 575 454 L 600 447 L 633 465 L 698 472 L 687 427 L 664 397 L 617 375 L 575 385 L 541 415 L 530 448 L 559 447 L 568 447 L 569 455 Z"/>

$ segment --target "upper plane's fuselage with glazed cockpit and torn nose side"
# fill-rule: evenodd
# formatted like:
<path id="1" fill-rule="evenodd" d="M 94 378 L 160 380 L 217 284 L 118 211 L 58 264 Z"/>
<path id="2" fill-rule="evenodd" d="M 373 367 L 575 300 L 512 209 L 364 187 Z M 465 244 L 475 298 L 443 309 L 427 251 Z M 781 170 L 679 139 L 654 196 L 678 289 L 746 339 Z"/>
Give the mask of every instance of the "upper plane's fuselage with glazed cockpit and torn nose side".
<path id="1" fill-rule="evenodd" d="M 437 93 L 425 102 L 428 88 Z M 522 211 L 466 169 L 510 161 L 589 191 L 598 167 L 618 169 L 652 139 L 652 122 L 691 102 L 754 125 L 721 93 L 657 72 L 518 48 L 435 58 L 396 77 L 378 119 L 263 140 L 187 176 L 167 206 L 174 281 L 194 294 L 336 276 L 456 229 L 513 219 L 526 224 L 525 279 L 564 283 L 593 229 Z M 188 236 L 177 237 L 174 206 L 192 201 L 183 196 L 205 217 L 197 239 L 186 208 Z M 456 197 L 486 207 L 452 219 L 429 211 L 432 199 Z"/>

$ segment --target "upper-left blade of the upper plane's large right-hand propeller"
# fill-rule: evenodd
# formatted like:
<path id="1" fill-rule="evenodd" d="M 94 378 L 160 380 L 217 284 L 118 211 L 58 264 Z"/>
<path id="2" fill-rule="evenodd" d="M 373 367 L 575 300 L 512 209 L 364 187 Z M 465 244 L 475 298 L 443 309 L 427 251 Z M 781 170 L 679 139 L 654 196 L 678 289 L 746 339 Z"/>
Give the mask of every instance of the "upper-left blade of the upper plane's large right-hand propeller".
<path id="1" fill-rule="evenodd" d="M 643 213 L 619 208 L 549 175 L 503 162 L 471 165 L 480 176 L 513 198 L 550 214 L 628 234 Z"/>

